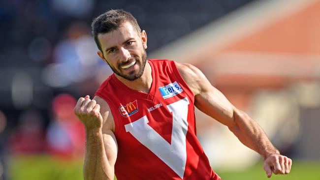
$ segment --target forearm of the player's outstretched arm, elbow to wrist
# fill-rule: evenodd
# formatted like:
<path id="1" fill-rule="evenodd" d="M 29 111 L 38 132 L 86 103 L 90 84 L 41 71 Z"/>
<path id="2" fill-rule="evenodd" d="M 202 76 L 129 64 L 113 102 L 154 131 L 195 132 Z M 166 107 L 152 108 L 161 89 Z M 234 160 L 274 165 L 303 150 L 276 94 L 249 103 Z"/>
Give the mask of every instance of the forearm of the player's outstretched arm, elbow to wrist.
<path id="1" fill-rule="evenodd" d="M 235 110 L 234 123 L 229 129 L 244 145 L 258 152 L 263 159 L 271 153 L 279 154 L 279 150 L 272 145 L 262 128 L 246 113 Z"/>

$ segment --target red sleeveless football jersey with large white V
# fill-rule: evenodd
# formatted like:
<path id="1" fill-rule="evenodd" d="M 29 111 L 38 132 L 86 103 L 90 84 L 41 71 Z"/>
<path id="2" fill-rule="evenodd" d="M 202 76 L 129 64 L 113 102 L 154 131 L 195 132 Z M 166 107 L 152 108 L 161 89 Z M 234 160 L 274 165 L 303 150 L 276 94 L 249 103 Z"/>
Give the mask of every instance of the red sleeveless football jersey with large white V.
<path id="1" fill-rule="evenodd" d="M 196 138 L 194 94 L 174 61 L 148 60 L 149 93 L 132 90 L 111 75 L 95 95 L 115 121 L 118 180 L 220 180 Z"/>

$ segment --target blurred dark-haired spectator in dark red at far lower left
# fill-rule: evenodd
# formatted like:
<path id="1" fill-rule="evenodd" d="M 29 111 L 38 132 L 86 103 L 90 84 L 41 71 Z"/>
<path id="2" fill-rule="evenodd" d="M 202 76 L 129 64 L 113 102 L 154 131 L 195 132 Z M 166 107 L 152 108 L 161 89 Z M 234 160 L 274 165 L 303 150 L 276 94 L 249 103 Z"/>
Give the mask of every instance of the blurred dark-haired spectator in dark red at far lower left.
<path id="1" fill-rule="evenodd" d="M 46 149 L 43 119 L 36 110 L 26 110 L 8 141 L 12 154 L 39 154 Z"/>

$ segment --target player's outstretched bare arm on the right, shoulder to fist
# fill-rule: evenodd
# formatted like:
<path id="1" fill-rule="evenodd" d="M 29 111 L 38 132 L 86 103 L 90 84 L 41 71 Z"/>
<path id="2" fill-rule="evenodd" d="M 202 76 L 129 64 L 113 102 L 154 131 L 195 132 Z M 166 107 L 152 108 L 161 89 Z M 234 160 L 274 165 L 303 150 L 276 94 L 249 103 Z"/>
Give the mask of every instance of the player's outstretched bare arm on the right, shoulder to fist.
<path id="1" fill-rule="evenodd" d="M 288 174 L 292 161 L 281 155 L 269 141 L 262 128 L 245 112 L 235 108 L 214 88 L 204 74 L 191 64 L 176 63 L 180 74 L 194 93 L 194 105 L 203 113 L 226 125 L 247 147 L 258 152 L 264 160 L 267 177 Z"/>

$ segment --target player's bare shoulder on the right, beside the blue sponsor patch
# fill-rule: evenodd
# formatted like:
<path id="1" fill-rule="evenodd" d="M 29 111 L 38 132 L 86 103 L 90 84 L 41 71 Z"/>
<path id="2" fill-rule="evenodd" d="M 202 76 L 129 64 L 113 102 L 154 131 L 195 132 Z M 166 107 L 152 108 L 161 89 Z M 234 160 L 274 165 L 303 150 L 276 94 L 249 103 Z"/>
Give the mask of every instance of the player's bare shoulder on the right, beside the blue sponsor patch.
<path id="1" fill-rule="evenodd" d="M 204 74 L 192 64 L 175 62 L 176 66 L 194 95 L 199 94 L 209 83 Z M 210 83 L 209 83 L 210 84 Z"/>

